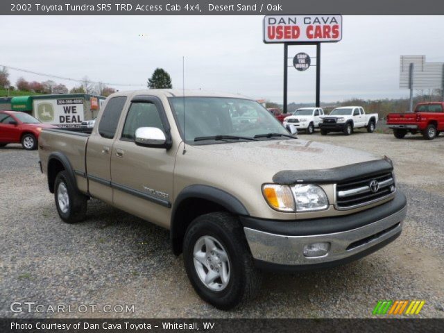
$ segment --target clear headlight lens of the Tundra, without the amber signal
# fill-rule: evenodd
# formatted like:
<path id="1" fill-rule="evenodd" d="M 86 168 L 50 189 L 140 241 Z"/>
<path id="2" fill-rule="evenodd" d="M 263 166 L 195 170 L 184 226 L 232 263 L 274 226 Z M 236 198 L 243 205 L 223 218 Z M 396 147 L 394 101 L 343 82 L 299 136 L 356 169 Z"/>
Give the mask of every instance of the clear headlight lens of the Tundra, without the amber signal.
<path id="1" fill-rule="evenodd" d="M 310 212 L 328 208 L 327 194 L 318 185 L 295 185 L 291 187 L 291 191 L 293 191 L 296 201 L 296 212 Z"/>

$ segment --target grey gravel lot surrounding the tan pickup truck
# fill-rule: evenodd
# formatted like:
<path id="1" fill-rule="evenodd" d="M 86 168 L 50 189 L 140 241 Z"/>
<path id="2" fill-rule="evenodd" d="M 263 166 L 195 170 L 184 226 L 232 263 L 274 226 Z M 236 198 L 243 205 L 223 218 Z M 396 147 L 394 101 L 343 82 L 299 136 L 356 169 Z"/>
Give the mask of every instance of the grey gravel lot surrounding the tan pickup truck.
<path id="1" fill-rule="evenodd" d="M 425 300 L 420 316 L 444 318 L 444 137 L 355 133 L 300 135 L 388 155 L 409 200 L 404 232 L 364 259 L 324 271 L 266 274 L 257 300 L 219 311 L 200 300 L 174 257 L 169 233 L 91 200 L 88 219 L 63 223 L 37 152 L 0 148 L 0 317 L 371 317 L 377 300 Z M 56 307 L 134 305 L 133 313 L 10 311 L 12 302 Z M 83 308 L 82 308 L 83 309 Z"/>

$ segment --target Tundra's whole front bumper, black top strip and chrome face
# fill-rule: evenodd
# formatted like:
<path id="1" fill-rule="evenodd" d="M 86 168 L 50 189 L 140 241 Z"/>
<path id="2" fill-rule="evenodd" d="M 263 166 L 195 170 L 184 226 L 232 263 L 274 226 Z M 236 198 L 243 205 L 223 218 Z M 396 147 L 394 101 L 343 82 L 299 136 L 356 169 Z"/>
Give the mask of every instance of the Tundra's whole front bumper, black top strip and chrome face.
<path id="1" fill-rule="evenodd" d="M 374 252 L 399 236 L 406 214 L 405 196 L 398 191 L 395 199 L 388 203 L 352 215 L 300 222 L 260 220 L 255 223 L 251 218 L 241 221 L 244 223 L 251 253 L 259 268 L 299 271 L 336 266 Z M 278 223 L 275 225 L 276 233 L 270 230 L 273 223 Z M 261 228 L 261 225 L 267 227 Z M 253 226 L 262 230 L 252 228 Z M 320 232 L 314 233 L 316 229 Z M 327 255 L 305 257 L 304 246 L 319 242 L 330 243 Z"/>

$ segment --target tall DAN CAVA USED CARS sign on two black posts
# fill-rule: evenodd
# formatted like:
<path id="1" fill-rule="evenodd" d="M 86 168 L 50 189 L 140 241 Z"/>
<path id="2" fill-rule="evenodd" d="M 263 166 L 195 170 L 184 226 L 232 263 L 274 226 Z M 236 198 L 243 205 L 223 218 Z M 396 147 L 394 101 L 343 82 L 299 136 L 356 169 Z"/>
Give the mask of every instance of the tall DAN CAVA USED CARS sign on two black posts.
<path id="1" fill-rule="evenodd" d="M 305 71 L 311 66 L 316 66 L 316 107 L 319 107 L 321 103 L 321 42 L 339 42 L 341 39 L 341 15 L 266 15 L 264 17 L 264 43 L 284 44 L 284 113 L 287 113 L 288 104 L 288 46 L 316 45 L 316 65 L 311 65 L 311 58 L 306 53 L 298 53 L 301 58 L 296 58 L 298 56 L 296 55 L 293 58 L 293 66 L 298 71 Z"/>

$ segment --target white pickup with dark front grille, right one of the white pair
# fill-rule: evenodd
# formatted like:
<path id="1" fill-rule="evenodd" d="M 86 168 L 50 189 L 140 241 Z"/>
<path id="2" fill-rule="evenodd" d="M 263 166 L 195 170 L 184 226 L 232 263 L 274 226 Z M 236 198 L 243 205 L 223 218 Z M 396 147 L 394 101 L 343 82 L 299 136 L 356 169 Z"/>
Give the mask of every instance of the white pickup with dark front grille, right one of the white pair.
<path id="1" fill-rule="evenodd" d="M 366 114 L 361 106 L 343 106 L 321 117 L 319 128 L 321 135 L 327 135 L 329 132 L 343 132 L 345 135 L 350 135 L 355 128 L 367 128 L 368 133 L 373 133 L 377 121 L 377 113 Z"/>

